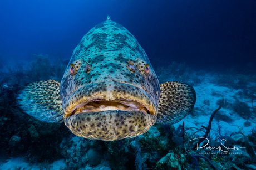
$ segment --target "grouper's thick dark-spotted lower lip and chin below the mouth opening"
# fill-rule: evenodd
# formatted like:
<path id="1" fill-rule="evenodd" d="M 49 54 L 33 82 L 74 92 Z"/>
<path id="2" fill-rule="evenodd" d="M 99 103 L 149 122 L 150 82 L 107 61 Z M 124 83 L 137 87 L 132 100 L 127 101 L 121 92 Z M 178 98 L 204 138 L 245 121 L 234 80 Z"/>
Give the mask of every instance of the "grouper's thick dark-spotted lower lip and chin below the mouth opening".
<path id="1" fill-rule="evenodd" d="M 65 125 L 77 136 L 117 141 L 147 132 L 156 117 L 141 111 L 107 110 L 81 113 L 67 117 Z"/>

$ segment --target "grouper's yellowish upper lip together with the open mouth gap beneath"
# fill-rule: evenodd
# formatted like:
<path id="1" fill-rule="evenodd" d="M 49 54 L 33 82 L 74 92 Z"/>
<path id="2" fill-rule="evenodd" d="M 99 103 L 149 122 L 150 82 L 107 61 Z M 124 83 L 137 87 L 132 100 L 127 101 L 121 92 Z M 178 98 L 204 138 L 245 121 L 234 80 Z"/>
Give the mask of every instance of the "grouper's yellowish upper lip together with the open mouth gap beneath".
<path id="1" fill-rule="evenodd" d="M 107 110 L 144 111 L 156 116 L 156 101 L 139 87 L 116 81 L 80 87 L 63 101 L 63 117 Z"/>

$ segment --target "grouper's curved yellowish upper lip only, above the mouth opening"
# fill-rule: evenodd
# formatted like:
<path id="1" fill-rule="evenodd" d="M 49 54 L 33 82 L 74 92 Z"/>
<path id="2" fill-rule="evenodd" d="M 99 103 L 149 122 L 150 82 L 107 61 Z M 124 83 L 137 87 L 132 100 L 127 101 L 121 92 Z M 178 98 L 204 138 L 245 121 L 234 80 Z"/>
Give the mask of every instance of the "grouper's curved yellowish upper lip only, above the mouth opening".
<path id="1" fill-rule="evenodd" d="M 122 87 L 122 89 L 107 88 L 107 86 Z M 105 87 L 105 89 L 104 89 Z M 129 89 L 127 89 L 129 88 Z M 102 91 L 97 91 L 97 90 Z M 127 90 L 135 90 L 134 94 L 130 94 Z M 146 107 L 148 114 L 156 116 L 157 102 L 145 90 L 140 89 L 131 84 L 121 83 L 118 81 L 104 81 L 82 86 L 63 100 L 63 118 L 72 115 L 72 112 L 82 105 L 86 105 L 93 101 L 117 101 L 130 100 L 138 102 Z"/>

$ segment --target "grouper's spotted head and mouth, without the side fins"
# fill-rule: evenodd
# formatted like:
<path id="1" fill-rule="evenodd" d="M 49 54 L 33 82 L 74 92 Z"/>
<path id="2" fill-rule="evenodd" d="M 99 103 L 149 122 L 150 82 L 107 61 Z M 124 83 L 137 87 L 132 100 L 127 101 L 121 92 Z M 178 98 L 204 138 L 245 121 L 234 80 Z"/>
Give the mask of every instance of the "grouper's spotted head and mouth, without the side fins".
<path id="1" fill-rule="evenodd" d="M 75 135 L 116 141 L 139 136 L 154 125 L 160 85 L 135 37 L 107 20 L 73 51 L 60 95 L 65 125 Z"/>

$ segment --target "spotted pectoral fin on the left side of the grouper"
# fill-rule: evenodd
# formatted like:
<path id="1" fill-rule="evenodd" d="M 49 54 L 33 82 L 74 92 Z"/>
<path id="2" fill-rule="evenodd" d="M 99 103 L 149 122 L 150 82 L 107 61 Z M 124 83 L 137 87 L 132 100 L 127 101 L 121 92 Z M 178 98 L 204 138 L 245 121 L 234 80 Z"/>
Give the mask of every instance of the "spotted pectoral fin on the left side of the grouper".
<path id="1" fill-rule="evenodd" d="M 60 83 L 56 80 L 29 83 L 17 95 L 17 104 L 38 120 L 63 122 Z"/>

